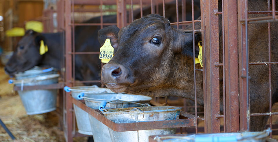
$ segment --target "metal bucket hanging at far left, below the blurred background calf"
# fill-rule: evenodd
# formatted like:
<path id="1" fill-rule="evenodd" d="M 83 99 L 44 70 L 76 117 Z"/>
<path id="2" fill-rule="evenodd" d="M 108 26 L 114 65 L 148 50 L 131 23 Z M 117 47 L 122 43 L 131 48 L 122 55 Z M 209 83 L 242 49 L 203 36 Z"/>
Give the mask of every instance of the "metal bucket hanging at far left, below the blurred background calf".
<path id="1" fill-rule="evenodd" d="M 59 74 L 29 77 L 20 80 L 9 81 L 16 86 L 21 86 L 18 94 L 28 115 L 41 114 L 56 110 L 57 89 L 50 90 L 26 90 L 24 86 L 49 85 L 58 83 Z"/>

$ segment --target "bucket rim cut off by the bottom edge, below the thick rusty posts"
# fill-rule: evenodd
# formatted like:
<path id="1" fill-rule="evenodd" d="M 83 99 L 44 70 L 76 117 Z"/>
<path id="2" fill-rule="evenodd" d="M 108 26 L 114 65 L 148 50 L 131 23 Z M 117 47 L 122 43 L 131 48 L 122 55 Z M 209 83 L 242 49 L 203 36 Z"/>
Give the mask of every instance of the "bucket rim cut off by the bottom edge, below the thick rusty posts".
<path id="1" fill-rule="evenodd" d="M 215 133 L 215 134 L 178 134 L 170 136 L 155 136 L 158 142 L 265 142 L 270 128 L 262 132 L 238 132 L 238 133 Z"/>

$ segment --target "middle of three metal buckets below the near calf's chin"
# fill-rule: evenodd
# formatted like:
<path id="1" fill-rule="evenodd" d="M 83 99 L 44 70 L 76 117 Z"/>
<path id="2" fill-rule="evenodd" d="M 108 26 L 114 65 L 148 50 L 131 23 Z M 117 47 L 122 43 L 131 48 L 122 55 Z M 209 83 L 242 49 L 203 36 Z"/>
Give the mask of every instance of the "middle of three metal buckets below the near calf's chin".
<path id="1" fill-rule="evenodd" d="M 122 94 L 122 93 L 114 93 L 114 94 L 88 94 L 85 97 L 82 97 L 85 100 L 85 104 L 92 109 L 98 109 L 103 101 L 110 101 L 107 103 L 105 108 L 127 108 L 127 107 L 136 107 L 142 106 L 143 103 L 149 103 L 151 101 L 151 97 L 142 96 L 142 95 L 134 95 L 134 94 Z M 122 100 L 122 101 L 114 101 L 114 100 Z M 136 103 L 132 103 L 136 102 Z M 142 103 L 142 104 L 138 104 Z M 94 141 L 112 141 L 108 127 L 98 121 L 93 116 L 89 115 L 89 121 L 92 127 L 92 133 L 94 137 Z"/>

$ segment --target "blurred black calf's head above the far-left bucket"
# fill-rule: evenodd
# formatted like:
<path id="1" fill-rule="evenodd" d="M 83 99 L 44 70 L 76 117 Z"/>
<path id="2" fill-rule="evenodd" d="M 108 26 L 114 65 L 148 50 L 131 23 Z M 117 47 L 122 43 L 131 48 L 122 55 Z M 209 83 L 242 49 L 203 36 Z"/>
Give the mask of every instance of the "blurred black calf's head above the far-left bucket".
<path id="1" fill-rule="evenodd" d="M 40 33 L 33 30 L 26 31 L 6 64 L 5 72 L 13 76 L 18 72 L 24 72 L 38 65 L 42 58 L 39 52 L 41 40 L 45 41 Z"/>

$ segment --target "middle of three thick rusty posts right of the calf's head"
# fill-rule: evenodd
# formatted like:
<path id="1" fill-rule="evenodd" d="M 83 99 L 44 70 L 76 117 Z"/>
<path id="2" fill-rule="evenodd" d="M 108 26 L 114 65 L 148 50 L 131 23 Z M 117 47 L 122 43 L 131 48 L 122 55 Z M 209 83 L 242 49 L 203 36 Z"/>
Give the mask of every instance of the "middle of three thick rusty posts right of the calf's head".
<path id="1" fill-rule="evenodd" d="M 226 2 L 226 4 L 225 4 Z M 237 1 L 222 1 L 224 132 L 239 130 Z M 226 127 L 225 127 L 226 126 Z"/>

